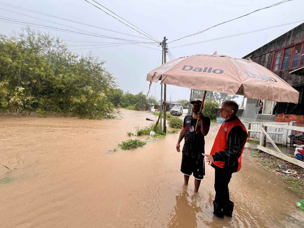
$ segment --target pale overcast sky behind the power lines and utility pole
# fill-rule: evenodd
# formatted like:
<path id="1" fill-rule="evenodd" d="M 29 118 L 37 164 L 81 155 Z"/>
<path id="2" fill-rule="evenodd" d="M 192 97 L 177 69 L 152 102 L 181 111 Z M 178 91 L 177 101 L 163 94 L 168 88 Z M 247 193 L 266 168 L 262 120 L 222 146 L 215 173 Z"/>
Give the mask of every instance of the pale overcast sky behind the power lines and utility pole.
<path id="1" fill-rule="evenodd" d="M 220 22 L 233 19 L 255 9 L 279 2 L 279 0 L 96 1 L 112 10 L 122 18 L 133 23 L 135 26 L 147 32 L 151 36 L 154 36 L 157 40 L 162 40 L 163 37 L 166 36 L 168 38 L 167 42 L 206 29 Z M 122 33 L 143 36 L 101 10 L 90 5 L 88 2 L 85 2 L 85 0 L 0 0 L 0 2 L 80 21 L 106 29 L 116 30 Z M 281 25 L 289 22 L 300 21 L 304 19 L 301 10 L 303 9 L 303 6 L 303 0 L 286 2 L 270 9 L 264 9 L 249 16 L 209 29 L 204 33 L 170 43 L 168 47 L 174 57 L 202 53 L 213 54 L 214 51 L 217 51 L 218 54 L 226 54 L 232 57 L 243 57 L 258 47 L 261 47 L 265 43 L 268 43 L 293 27 L 299 25 L 301 22 L 246 35 L 200 43 L 197 45 L 176 48 L 173 47 Z M 0 5 L 0 8 L 2 8 L 0 9 L 0 15 L 3 17 L 63 27 L 54 25 L 50 22 L 44 22 L 38 19 L 33 19 L 3 10 L 9 9 L 26 15 L 87 30 L 93 33 L 127 38 L 131 40 L 143 40 L 141 38 L 37 15 L 31 12 L 22 11 L 20 9 L 13 9 L 4 5 Z M 21 25 L 0 22 L 1 33 L 5 35 L 10 35 L 13 31 L 19 32 L 21 27 Z M 39 30 L 49 32 L 51 35 L 58 36 L 62 40 L 116 42 L 115 40 L 111 39 L 82 34 L 71 34 L 47 29 Z M 71 41 L 66 43 L 68 45 L 96 44 Z M 134 44 L 118 47 L 88 48 L 73 51 L 80 55 L 85 55 L 91 50 L 93 54 L 98 55 L 102 60 L 107 62 L 105 66 L 113 74 L 113 76 L 117 78 L 120 88 L 122 88 L 124 91 L 130 91 L 131 93 L 136 94 L 140 91 L 147 93 L 149 86 L 149 83 L 146 81 L 147 73 L 161 64 L 161 48 L 149 44 L 145 44 L 145 46 L 159 49 L 159 51 L 146 47 L 140 47 Z M 71 47 L 71 49 L 75 48 L 84 47 Z M 168 57 L 167 60 L 169 60 Z M 156 95 L 157 98 L 160 98 L 159 83 L 153 84 L 150 94 Z M 167 98 L 170 99 L 170 96 L 172 101 L 178 99 L 189 99 L 189 89 L 168 85 Z M 240 100 L 241 99 L 238 99 L 238 102 L 240 102 Z"/>

